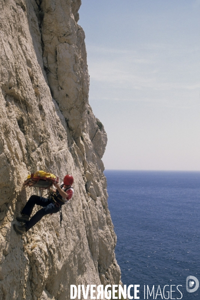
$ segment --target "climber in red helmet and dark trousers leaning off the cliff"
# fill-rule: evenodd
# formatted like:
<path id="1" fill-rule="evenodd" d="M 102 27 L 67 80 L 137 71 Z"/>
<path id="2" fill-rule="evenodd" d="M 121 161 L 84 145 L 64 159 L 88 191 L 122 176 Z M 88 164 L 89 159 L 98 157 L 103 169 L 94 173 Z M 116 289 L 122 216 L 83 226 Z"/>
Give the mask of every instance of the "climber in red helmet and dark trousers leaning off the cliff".
<path id="1" fill-rule="evenodd" d="M 72 175 L 67 174 L 61 185 L 53 183 L 56 189 L 53 189 L 52 193 L 48 198 L 32 195 L 28 199 L 27 203 L 21 210 L 21 216 L 17 216 L 16 219 L 19 222 L 24 223 L 23 225 L 13 224 L 14 230 L 23 234 L 34 226 L 45 214 L 56 213 L 60 210 L 61 206 L 66 203 L 74 194 L 72 184 L 74 178 Z M 34 205 L 40 205 L 43 208 L 38 210 L 31 218 L 31 212 Z"/>

